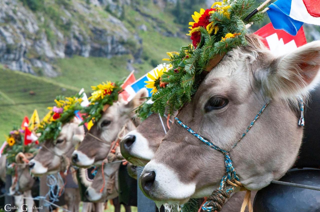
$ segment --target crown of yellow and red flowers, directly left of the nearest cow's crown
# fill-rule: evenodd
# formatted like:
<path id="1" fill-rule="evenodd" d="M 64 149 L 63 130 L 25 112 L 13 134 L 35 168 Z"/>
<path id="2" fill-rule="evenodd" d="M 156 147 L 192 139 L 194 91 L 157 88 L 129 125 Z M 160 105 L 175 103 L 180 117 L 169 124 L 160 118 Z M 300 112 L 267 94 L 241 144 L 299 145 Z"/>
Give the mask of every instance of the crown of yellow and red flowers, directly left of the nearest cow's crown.
<path id="1" fill-rule="evenodd" d="M 97 86 L 91 86 L 94 92 L 88 98 L 90 104 L 88 107 L 82 109 L 82 112 L 87 116 L 84 116 L 84 120 L 81 124 L 85 122 L 94 122 L 99 120 L 102 116 L 102 112 L 107 110 L 108 106 L 112 105 L 114 101 L 118 100 L 119 93 L 121 92 L 122 82 L 103 82 Z"/>

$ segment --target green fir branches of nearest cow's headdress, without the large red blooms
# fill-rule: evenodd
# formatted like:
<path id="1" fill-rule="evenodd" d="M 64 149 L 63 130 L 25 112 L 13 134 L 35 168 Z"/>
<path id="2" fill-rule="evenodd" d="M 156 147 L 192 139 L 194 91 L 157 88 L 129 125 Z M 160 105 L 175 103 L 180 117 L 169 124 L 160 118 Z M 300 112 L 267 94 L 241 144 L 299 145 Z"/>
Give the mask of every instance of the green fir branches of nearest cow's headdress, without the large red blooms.
<path id="1" fill-rule="evenodd" d="M 220 12 L 213 12 L 210 22 L 219 27 L 216 34 L 209 34 L 204 27 L 200 28 L 201 41 L 196 49 L 192 45 L 181 47 L 179 54 L 170 57 L 172 68 L 164 72 L 161 81 L 167 83 L 152 95 L 154 102 L 152 111 L 164 115 L 167 107 L 169 115 L 191 101 L 204 76 L 201 74 L 209 60 L 216 55 L 223 55 L 238 46 L 245 46 L 245 35 L 248 23 L 260 22 L 264 14 L 258 12 L 248 22 L 244 18 L 256 9 L 259 4 L 255 0 L 230 0 L 229 18 Z M 233 36 L 228 37 L 227 34 Z M 144 110 L 141 112 L 141 110 Z M 144 106 L 138 109 L 138 116 L 145 118 L 150 112 Z"/>

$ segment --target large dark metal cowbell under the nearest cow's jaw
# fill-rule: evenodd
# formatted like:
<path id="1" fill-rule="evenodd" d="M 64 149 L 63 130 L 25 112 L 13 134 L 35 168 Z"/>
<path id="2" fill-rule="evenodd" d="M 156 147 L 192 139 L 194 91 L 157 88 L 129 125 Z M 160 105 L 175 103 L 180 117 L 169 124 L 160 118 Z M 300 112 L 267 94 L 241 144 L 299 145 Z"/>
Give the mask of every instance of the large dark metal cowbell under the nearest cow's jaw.
<path id="1" fill-rule="evenodd" d="M 280 181 L 320 186 L 320 170 L 290 171 Z M 320 191 L 270 184 L 257 192 L 253 211 L 320 212 Z"/>

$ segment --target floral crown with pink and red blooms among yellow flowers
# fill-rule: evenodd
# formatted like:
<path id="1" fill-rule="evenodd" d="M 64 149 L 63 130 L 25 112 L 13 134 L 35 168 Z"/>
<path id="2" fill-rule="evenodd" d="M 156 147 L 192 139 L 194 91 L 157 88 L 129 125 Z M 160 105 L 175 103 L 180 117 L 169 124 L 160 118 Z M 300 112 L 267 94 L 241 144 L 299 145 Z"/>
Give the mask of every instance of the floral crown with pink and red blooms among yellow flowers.
<path id="1" fill-rule="evenodd" d="M 59 136 L 62 125 L 68 123 L 74 116 L 76 110 L 81 110 L 81 95 L 72 97 L 57 96 L 53 107 L 48 107 L 49 113 L 40 123 L 37 133 L 41 133 L 39 142 L 44 140 L 55 140 Z"/>

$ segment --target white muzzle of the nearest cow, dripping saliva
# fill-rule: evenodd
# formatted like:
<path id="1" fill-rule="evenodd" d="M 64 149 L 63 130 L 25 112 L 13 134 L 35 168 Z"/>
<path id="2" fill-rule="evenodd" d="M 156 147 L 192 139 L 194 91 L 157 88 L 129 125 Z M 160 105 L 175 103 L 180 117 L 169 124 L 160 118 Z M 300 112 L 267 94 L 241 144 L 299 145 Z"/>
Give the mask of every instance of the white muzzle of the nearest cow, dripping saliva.
<path id="1" fill-rule="evenodd" d="M 152 186 L 143 188 L 141 180 L 150 171 L 155 172 Z M 177 173 L 162 163 L 151 160 L 144 168 L 139 179 L 139 186 L 143 193 L 150 199 L 160 203 L 184 204 L 195 193 L 196 183 L 184 183 L 179 180 Z"/>

